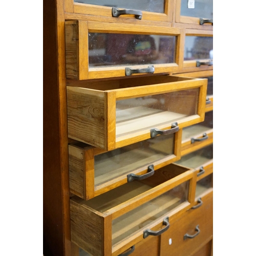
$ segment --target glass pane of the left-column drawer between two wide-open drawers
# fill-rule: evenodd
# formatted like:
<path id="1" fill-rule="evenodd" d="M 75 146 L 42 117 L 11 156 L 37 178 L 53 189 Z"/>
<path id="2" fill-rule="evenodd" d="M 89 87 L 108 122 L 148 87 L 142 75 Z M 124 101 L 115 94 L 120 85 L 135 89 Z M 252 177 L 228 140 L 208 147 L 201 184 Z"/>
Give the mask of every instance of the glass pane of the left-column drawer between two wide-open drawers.
<path id="1" fill-rule="evenodd" d="M 174 136 L 157 136 L 95 156 L 95 186 L 173 155 Z"/>

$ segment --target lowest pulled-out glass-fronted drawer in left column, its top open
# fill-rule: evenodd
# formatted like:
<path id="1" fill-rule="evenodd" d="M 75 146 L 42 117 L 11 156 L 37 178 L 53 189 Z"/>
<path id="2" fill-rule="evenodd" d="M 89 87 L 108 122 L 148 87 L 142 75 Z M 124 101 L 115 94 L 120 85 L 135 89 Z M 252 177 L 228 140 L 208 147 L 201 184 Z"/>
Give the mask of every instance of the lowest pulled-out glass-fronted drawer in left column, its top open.
<path id="1" fill-rule="evenodd" d="M 196 175 L 167 165 L 145 180 L 126 183 L 91 200 L 71 198 L 71 240 L 97 255 L 119 255 L 169 227 L 190 208 Z"/>

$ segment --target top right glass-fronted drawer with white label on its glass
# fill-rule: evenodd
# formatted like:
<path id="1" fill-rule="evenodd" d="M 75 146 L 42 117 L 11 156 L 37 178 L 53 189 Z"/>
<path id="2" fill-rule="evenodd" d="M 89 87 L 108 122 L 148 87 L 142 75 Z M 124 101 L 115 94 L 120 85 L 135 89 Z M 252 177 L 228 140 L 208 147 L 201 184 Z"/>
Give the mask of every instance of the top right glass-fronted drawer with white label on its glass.
<path id="1" fill-rule="evenodd" d="M 188 28 L 212 30 L 213 1 L 176 0 L 176 23 L 189 24 Z"/>

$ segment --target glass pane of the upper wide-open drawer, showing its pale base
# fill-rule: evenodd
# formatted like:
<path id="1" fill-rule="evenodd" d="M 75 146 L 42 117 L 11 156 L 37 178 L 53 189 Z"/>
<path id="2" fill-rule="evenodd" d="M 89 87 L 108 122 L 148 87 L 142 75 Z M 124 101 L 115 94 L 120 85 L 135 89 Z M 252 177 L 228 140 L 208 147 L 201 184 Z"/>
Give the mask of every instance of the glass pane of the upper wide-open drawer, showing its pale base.
<path id="1" fill-rule="evenodd" d="M 195 115 L 198 97 L 199 88 L 195 88 L 117 100 L 116 138 Z"/>

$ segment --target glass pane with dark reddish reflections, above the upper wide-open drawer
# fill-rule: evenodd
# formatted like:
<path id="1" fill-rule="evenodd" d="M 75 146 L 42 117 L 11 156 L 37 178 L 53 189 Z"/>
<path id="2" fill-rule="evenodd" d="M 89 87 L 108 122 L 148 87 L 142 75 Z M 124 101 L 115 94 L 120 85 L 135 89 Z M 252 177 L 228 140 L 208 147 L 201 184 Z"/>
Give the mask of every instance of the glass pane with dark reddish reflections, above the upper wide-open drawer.
<path id="1" fill-rule="evenodd" d="M 89 67 L 174 63 L 176 36 L 89 33 Z"/>

